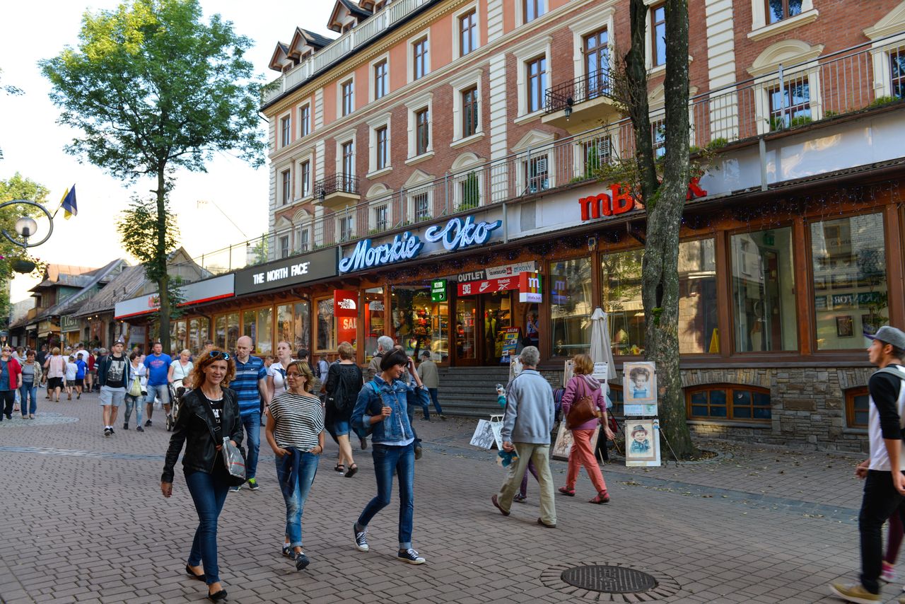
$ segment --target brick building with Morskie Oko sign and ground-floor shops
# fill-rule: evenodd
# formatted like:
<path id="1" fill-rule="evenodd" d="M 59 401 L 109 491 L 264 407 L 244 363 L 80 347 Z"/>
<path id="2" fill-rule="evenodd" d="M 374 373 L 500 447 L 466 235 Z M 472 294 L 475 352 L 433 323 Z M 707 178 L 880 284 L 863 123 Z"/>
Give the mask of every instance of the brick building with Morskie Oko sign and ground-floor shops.
<path id="1" fill-rule="evenodd" d="M 665 15 L 649 4 L 662 149 Z M 905 324 L 905 3 L 689 4 L 691 145 L 717 150 L 681 229 L 690 423 L 859 448 L 863 333 Z M 262 98 L 269 262 L 205 306 L 216 343 L 349 340 L 366 362 L 386 334 L 449 370 L 533 343 L 555 381 L 600 306 L 617 368 L 642 358 L 643 200 L 599 179 L 633 154 L 609 70 L 627 5 L 340 0 L 338 38 L 297 28 Z"/>

